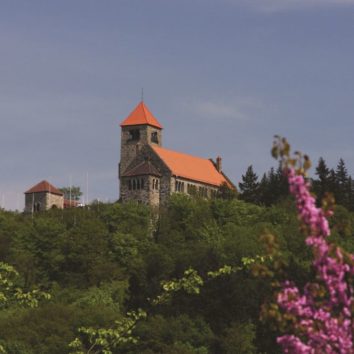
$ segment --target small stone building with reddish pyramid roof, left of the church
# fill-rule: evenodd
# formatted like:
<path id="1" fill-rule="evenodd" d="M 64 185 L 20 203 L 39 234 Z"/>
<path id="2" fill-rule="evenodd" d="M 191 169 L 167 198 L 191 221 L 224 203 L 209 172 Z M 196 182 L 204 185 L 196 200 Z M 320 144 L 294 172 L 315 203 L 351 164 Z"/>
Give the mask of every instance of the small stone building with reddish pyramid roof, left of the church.
<path id="1" fill-rule="evenodd" d="M 39 212 L 64 208 L 64 194 L 47 181 L 42 181 L 25 192 L 25 212 Z"/>

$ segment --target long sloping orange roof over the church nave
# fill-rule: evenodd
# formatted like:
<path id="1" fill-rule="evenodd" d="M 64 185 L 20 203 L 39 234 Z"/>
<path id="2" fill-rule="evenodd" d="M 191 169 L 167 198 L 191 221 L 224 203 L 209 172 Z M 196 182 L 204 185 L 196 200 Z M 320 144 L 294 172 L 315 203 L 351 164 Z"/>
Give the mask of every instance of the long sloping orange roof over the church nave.
<path id="1" fill-rule="evenodd" d="M 160 146 L 151 146 L 162 161 L 177 177 L 198 181 L 214 186 L 220 186 L 222 183 L 230 185 L 222 173 L 209 159 L 195 157 L 180 152 L 164 149 Z"/>

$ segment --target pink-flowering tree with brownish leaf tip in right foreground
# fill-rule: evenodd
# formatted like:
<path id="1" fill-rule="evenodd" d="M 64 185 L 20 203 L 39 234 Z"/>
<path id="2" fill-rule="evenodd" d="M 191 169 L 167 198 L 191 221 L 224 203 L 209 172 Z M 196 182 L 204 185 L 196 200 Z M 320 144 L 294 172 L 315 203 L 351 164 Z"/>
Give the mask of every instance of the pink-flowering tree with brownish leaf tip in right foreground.
<path id="1" fill-rule="evenodd" d="M 316 272 L 303 289 L 288 279 L 278 283 L 277 303 L 268 311 L 283 332 L 277 342 L 285 353 L 352 353 L 353 255 L 328 241 L 331 201 L 326 209 L 316 207 L 305 178 L 308 157 L 290 156 L 290 146 L 281 138 L 274 142 L 273 156 L 281 157 Z M 345 177 L 344 161 L 340 165 Z"/>

